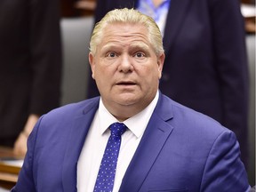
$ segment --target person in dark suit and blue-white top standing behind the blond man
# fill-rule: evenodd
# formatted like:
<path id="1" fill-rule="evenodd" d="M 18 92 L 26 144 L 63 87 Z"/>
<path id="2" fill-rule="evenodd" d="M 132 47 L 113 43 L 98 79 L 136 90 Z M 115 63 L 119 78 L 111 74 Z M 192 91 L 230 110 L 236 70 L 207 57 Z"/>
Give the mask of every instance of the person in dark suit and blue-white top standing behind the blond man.
<path id="1" fill-rule="evenodd" d="M 164 36 L 160 90 L 236 133 L 248 161 L 249 76 L 244 18 L 237 0 L 98 0 L 95 22 L 115 8 L 148 14 Z M 99 95 L 88 73 L 88 98 Z"/>

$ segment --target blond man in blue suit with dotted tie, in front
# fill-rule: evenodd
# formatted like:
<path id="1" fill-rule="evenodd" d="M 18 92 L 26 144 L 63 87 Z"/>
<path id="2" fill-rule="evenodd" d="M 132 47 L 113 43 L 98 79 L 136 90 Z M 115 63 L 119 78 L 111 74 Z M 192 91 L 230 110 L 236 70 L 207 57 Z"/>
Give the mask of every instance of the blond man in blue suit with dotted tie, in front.
<path id="1" fill-rule="evenodd" d="M 235 134 L 158 91 L 165 56 L 153 19 L 108 12 L 90 49 L 100 97 L 39 119 L 13 192 L 249 190 Z"/>

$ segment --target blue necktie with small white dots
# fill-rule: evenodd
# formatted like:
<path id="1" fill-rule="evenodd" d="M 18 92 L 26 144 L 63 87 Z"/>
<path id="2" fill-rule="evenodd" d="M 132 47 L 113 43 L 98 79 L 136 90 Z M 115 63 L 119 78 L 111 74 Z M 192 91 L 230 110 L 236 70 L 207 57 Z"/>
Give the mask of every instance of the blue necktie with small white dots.
<path id="1" fill-rule="evenodd" d="M 114 123 L 110 125 L 109 129 L 111 134 L 101 160 L 93 192 L 111 192 L 113 190 L 121 135 L 126 131 L 127 127 L 122 123 Z"/>

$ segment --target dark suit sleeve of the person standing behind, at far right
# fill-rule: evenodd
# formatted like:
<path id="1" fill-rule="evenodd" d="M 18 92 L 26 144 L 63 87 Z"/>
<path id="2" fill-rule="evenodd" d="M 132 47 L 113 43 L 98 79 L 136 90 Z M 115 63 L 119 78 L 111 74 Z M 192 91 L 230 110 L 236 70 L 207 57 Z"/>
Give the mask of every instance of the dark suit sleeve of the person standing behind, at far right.
<path id="1" fill-rule="evenodd" d="M 214 64 L 220 77 L 222 124 L 236 133 L 246 159 L 249 75 L 244 18 L 238 0 L 210 0 Z"/>

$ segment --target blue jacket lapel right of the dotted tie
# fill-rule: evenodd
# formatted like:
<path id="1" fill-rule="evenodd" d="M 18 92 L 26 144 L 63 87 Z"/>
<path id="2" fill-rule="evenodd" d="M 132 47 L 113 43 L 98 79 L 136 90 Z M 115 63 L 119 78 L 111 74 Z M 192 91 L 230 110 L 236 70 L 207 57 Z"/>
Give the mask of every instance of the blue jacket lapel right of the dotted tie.
<path id="1" fill-rule="evenodd" d="M 125 172 L 119 191 L 140 190 L 156 157 L 161 152 L 165 141 L 172 132 L 172 126 L 166 123 L 172 118 L 172 106 L 169 104 L 170 102 L 163 103 L 160 100 L 158 101 L 160 104 L 157 104 L 158 107 L 156 106 L 155 112 L 148 122 L 147 129 L 140 140 L 140 144 L 132 157 L 132 162 Z"/>

